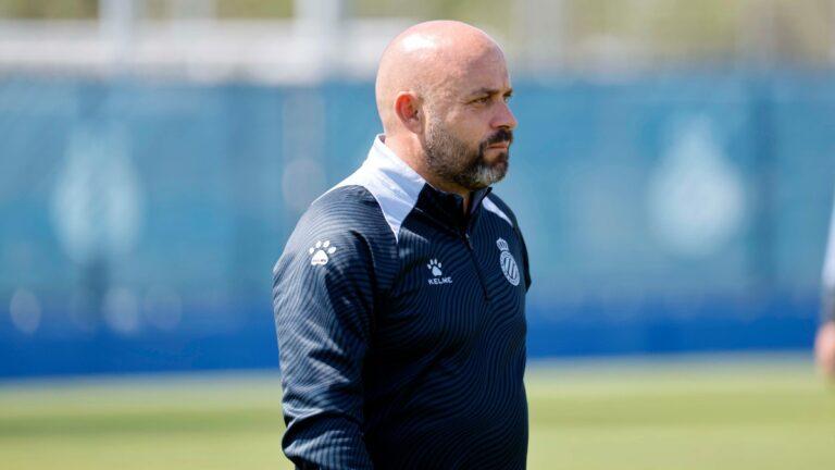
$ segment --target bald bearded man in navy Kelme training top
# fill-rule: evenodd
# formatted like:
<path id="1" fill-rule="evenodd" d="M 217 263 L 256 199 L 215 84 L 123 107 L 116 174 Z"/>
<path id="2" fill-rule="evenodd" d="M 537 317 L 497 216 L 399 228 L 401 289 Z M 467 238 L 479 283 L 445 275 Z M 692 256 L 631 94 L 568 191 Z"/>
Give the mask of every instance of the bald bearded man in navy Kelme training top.
<path id="1" fill-rule="evenodd" d="M 490 185 L 516 121 L 501 49 L 413 26 L 376 81 L 384 133 L 274 268 L 287 457 L 302 469 L 522 469 L 527 252 Z"/>

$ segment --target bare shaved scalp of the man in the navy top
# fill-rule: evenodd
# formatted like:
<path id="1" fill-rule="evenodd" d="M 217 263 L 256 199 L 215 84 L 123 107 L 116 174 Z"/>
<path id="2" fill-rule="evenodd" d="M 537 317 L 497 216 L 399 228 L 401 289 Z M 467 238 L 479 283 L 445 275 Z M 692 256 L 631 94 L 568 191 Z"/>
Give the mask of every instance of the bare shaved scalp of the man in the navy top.
<path id="1" fill-rule="evenodd" d="M 376 81 L 379 119 L 387 136 L 403 131 L 396 106 L 411 94 L 433 106 L 459 91 L 470 72 L 488 61 L 504 67 L 499 46 L 483 30 L 461 22 L 432 21 L 398 35 L 383 52 Z"/>

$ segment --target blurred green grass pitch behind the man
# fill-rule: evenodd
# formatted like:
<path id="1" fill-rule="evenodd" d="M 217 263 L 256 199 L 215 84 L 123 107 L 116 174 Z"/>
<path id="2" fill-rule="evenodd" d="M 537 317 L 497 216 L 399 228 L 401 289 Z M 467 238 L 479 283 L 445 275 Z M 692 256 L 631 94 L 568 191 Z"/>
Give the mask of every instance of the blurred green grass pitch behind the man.
<path id="1" fill-rule="evenodd" d="M 835 389 L 808 358 L 533 364 L 531 469 L 835 468 Z M 278 379 L 0 382 L 0 468 L 283 469 Z"/>

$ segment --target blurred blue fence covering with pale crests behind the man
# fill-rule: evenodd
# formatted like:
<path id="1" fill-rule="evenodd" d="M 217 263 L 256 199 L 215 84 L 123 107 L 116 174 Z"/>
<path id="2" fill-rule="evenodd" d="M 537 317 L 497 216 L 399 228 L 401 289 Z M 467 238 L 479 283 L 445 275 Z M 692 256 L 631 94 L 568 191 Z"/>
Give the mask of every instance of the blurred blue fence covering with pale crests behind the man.
<path id="1" fill-rule="evenodd" d="M 832 78 L 514 84 L 531 356 L 809 347 Z M 275 367 L 272 264 L 378 129 L 370 83 L 0 81 L 0 375 Z"/>

